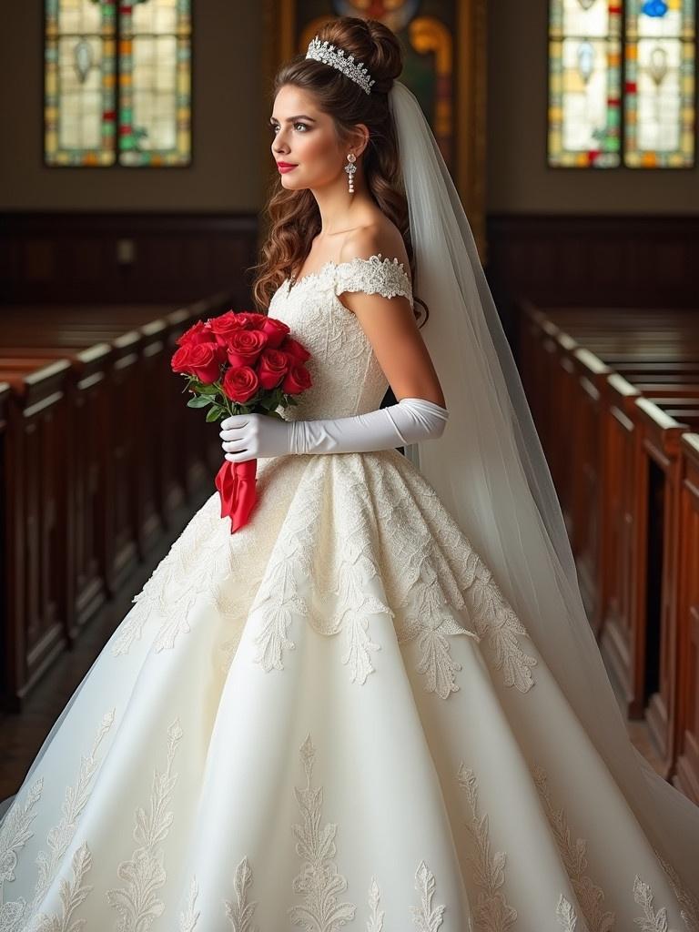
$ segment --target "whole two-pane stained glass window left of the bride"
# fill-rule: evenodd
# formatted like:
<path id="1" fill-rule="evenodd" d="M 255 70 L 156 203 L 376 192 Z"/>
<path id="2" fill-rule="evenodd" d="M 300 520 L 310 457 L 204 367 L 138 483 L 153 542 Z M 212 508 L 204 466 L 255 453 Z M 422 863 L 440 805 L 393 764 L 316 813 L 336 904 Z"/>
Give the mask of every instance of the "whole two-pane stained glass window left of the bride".
<path id="1" fill-rule="evenodd" d="M 191 162 L 191 0 L 45 0 L 48 165 Z"/>

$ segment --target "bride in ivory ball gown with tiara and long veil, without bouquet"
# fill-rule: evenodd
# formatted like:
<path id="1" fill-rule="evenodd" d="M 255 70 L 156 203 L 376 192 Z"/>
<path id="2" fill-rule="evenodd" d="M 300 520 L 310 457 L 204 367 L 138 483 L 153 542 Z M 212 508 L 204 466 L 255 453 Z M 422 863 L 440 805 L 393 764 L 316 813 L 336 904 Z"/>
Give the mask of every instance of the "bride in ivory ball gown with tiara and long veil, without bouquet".
<path id="1" fill-rule="evenodd" d="M 276 77 L 254 295 L 313 385 L 222 422 L 249 523 L 204 504 L 6 801 L 2 932 L 699 929 L 699 808 L 629 742 L 401 71 L 347 17 Z"/>

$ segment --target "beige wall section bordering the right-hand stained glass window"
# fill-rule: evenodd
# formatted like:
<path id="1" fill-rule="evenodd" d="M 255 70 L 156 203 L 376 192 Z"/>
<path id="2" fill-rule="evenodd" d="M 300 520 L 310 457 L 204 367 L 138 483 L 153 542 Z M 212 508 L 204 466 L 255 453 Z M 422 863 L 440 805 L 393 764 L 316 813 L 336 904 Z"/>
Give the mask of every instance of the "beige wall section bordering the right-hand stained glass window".
<path id="1" fill-rule="evenodd" d="M 699 211 L 699 169 L 546 167 L 546 7 L 488 0 L 488 212 Z"/>

